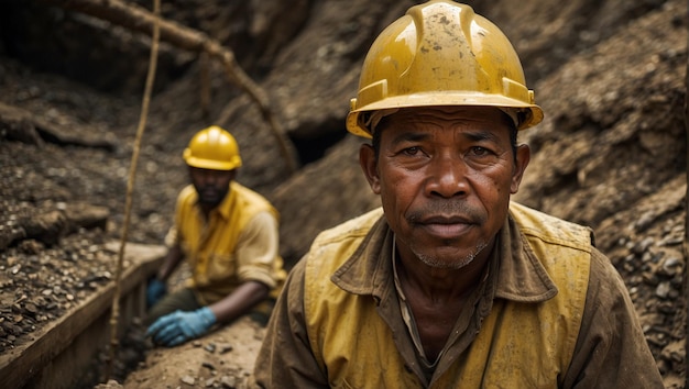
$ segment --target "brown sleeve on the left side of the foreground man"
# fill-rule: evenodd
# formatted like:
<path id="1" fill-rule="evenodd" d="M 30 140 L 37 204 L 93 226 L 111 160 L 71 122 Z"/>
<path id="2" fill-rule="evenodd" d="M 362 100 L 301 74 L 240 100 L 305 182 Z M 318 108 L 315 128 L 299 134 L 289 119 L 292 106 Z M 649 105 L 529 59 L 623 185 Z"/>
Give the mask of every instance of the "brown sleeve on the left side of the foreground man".
<path id="1" fill-rule="evenodd" d="M 261 388 L 329 388 L 311 352 L 304 315 L 304 262 L 287 276 L 259 351 L 254 378 Z"/>

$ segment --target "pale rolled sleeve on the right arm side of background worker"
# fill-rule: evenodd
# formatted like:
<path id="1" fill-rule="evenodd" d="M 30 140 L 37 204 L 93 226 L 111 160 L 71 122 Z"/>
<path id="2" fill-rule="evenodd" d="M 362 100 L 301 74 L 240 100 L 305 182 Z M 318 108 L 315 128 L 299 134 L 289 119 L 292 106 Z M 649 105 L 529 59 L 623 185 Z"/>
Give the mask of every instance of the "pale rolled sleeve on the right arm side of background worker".
<path id="1" fill-rule="evenodd" d="M 277 220 L 269 212 L 260 212 L 253 216 L 237 242 L 239 280 L 260 281 L 271 289 L 275 288 L 278 244 Z"/>

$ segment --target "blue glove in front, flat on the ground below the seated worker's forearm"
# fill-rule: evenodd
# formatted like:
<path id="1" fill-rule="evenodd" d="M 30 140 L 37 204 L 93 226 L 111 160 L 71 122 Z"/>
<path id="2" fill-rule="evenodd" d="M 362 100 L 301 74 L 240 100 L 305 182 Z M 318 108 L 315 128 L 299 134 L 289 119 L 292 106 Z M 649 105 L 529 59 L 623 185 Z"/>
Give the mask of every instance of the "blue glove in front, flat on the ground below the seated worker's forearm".
<path id="1" fill-rule="evenodd" d="M 151 324 L 146 336 L 152 336 L 155 344 L 172 347 L 201 336 L 215 323 L 216 315 L 208 307 L 189 312 L 177 310 Z"/>

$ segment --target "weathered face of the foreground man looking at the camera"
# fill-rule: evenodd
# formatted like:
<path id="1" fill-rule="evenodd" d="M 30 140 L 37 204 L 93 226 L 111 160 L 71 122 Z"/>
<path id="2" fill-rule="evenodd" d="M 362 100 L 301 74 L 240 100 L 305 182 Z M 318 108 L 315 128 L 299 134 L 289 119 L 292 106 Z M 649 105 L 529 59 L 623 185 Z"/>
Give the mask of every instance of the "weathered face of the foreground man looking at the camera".
<path id="1" fill-rule="evenodd" d="M 490 254 L 529 159 L 526 145 L 514 157 L 508 121 L 478 107 L 404 109 L 381 121 L 379 155 L 363 145 L 360 162 L 400 255 L 458 269 Z"/>

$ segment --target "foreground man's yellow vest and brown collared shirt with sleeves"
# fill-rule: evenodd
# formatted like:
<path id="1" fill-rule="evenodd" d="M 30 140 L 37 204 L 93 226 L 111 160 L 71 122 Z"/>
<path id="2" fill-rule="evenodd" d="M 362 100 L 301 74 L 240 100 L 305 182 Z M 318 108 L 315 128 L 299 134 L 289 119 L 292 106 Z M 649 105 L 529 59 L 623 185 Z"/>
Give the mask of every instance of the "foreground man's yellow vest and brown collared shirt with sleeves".
<path id="1" fill-rule="evenodd" d="M 516 203 L 437 360 L 394 282 L 382 210 L 321 233 L 255 364 L 264 388 L 663 388 L 624 282 L 591 231 Z"/>

